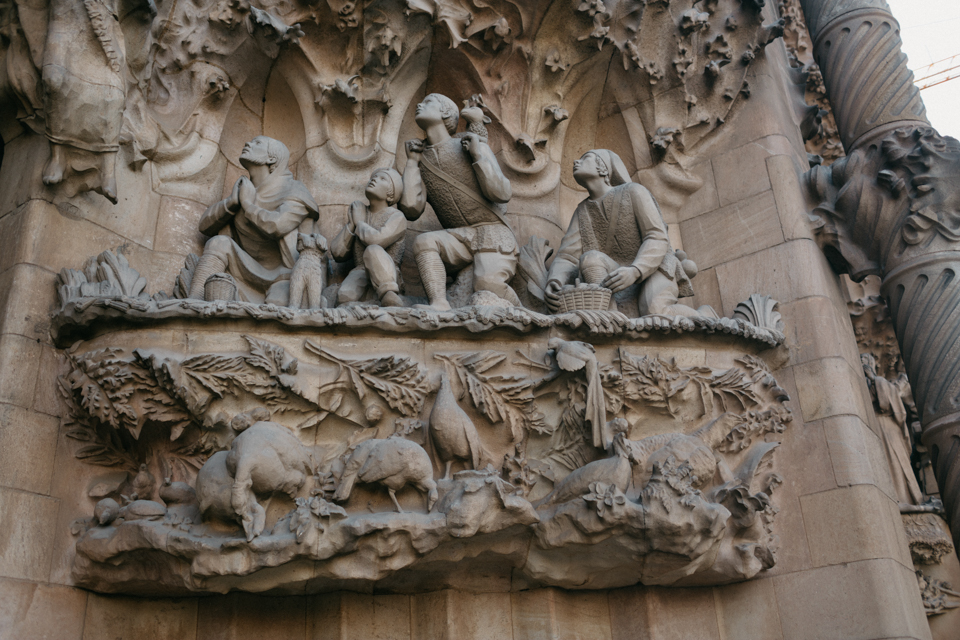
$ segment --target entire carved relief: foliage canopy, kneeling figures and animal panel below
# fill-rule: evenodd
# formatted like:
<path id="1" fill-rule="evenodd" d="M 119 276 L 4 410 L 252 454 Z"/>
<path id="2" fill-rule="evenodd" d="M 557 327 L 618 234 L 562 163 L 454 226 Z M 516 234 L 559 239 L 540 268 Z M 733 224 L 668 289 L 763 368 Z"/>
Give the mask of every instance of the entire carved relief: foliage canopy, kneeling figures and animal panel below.
<path id="1" fill-rule="evenodd" d="M 772 567 L 773 455 L 791 415 L 753 354 L 784 340 L 776 301 L 751 296 L 731 318 L 682 305 L 696 265 L 671 247 L 652 193 L 678 207 L 699 186 L 697 146 L 749 97 L 750 65 L 782 31 L 759 6 L 204 0 L 156 22 L 152 5 L 86 7 L 100 49 L 88 48 L 116 76 L 94 96 L 110 122 L 96 144 L 70 138 L 56 69 L 42 67 L 37 99 L 20 82 L 24 121 L 67 145 L 45 179 L 80 176 L 77 189 L 115 200 L 116 157 L 157 193 L 202 202 L 209 240 L 172 295 L 148 293 L 119 250 L 58 276 L 53 333 L 82 339 L 64 351 L 65 432 L 104 468 L 73 526 L 78 582 L 392 590 L 433 584 L 458 554 L 590 589 Z M 119 27 L 104 26 L 111 12 Z M 258 104 L 266 83 L 290 94 L 280 124 Z M 686 108 L 656 107 L 667 93 Z M 616 148 L 574 163 L 585 148 L 568 128 L 599 120 L 606 95 L 612 128 L 589 137 Z M 220 193 L 228 134 L 253 135 L 244 118 L 284 141 L 247 143 L 249 177 Z M 424 139 L 398 145 L 413 125 Z M 587 190 L 574 212 L 558 210 L 564 180 Z M 553 262 L 517 224 L 531 203 L 554 244 L 573 213 Z M 430 211 L 441 229 L 423 228 Z M 426 300 L 402 273 L 419 273 Z M 95 335 L 104 320 L 168 319 L 216 322 L 222 342 Z M 233 320 L 291 331 L 283 345 L 240 338 Z M 495 347 L 465 349 L 464 329 L 498 328 Z M 729 336 L 711 347 L 723 367 L 657 350 L 662 336 L 714 333 Z"/>

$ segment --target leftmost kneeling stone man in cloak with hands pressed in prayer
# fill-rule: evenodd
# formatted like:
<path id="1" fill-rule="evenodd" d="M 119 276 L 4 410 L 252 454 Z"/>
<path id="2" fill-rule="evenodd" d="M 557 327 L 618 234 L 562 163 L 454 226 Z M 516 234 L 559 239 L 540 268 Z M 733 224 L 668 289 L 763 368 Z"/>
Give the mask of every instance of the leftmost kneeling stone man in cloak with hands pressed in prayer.
<path id="1" fill-rule="evenodd" d="M 244 146 L 240 164 L 250 177 L 237 180 L 231 194 L 200 219 L 200 231 L 212 237 L 194 270 L 189 297 L 204 299 L 207 279 L 226 272 L 242 300 L 287 304 L 297 233 L 312 233 L 319 217 L 313 196 L 287 168 L 289 160 L 286 145 L 273 138 L 258 136 Z"/>

